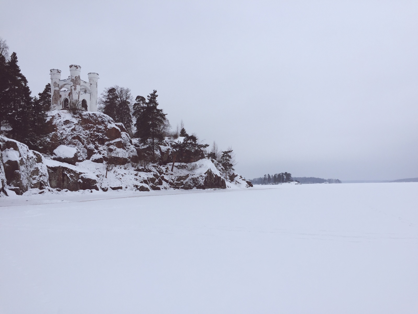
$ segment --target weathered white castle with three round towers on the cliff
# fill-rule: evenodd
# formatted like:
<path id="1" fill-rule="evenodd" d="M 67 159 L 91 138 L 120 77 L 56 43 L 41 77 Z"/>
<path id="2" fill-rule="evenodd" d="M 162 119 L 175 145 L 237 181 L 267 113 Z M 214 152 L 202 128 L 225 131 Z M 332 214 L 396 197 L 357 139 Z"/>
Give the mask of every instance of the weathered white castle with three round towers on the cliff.
<path id="1" fill-rule="evenodd" d="M 80 78 L 81 67 L 70 65 L 70 76 L 61 80 L 61 71 L 51 69 L 51 108 L 68 108 L 69 104 L 79 101 L 86 111 L 97 111 L 97 82 L 99 75 L 91 72 L 88 74 L 89 82 Z"/>

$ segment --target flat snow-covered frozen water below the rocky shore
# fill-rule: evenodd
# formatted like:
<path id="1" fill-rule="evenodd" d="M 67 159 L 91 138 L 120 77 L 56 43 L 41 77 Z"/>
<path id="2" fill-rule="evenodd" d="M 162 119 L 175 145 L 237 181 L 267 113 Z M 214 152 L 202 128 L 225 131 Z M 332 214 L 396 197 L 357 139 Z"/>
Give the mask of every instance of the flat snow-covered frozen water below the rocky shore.
<path id="1" fill-rule="evenodd" d="M 0 313 L 418 313 L 418 183 L 0 198 Z"/>

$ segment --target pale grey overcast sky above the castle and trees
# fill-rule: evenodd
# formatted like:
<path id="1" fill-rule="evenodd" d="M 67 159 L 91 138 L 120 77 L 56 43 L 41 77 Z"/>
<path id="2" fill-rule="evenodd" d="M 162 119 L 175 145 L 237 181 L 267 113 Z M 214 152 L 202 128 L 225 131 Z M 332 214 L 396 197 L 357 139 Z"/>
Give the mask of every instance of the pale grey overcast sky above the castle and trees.
<path id="1" fill-rule="evenodd" d="M 33 95 L 49 69 L 158 91 L 172 126 L 236 170 L 418 177 L 417 1 L 5 1 L 0 36 Z"/>

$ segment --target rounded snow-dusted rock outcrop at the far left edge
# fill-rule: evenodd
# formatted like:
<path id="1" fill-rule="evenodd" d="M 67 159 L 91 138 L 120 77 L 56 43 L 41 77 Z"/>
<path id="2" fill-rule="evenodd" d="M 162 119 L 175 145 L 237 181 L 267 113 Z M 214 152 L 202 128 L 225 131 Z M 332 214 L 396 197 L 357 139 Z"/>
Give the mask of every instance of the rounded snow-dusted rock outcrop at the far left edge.
<path id="1" fill-rule="evenodd" d="M 8 188 L 17 194 L 29 188 L 48 186 L 48 172 L 43 157 L 28 146 L 13 139 L 0 136 L 0 189 Z"/>

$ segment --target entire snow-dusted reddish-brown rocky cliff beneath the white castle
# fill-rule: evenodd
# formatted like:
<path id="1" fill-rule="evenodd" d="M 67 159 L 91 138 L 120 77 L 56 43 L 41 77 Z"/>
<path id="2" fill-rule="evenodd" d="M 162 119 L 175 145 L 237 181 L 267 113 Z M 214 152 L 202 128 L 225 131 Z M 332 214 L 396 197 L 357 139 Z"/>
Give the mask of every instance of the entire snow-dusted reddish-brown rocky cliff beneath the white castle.
<path id="1" fill-rule="evenodd" d="M 42 190 L 161 190 L 249 187 L 239 175 L 222 176 L 222 166 L 203 152 L 171 171 L 170 143 L 160 146 L 158 164 L 142 162 L 146 152 L 131 139 L 123 124 L 102 113 L 72 115 L 53 111 L 49 116 L 49 144 L 43 151 L 0 137 L 0 193 L 22 194 Z M 221 171 L 219 171 L 221 170 Z M 39 191 L 41 190 L 41 191 Z"/>

